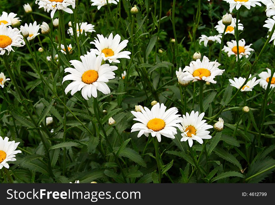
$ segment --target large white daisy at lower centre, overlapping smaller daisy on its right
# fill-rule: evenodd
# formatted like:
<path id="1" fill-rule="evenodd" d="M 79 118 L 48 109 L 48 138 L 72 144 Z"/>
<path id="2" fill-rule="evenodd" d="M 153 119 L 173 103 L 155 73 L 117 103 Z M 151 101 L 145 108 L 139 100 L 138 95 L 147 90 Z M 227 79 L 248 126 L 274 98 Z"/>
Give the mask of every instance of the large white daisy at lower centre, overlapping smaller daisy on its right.
<path id="1" fill-rule="evenodd" d="M 141 112 L 131 111 L 131 113 L 136 117 L 133 120 L 139 121 L 132 126 L 131 132 L 139 131 L 138 137 L 141 135 L 149 136 L 151 133 L 152 137 L 157 137 L 158 141 L 161 141 L 161 135 L 175 139 L 175 134 L 177 134 L 177 129 L 181 120 L 179 119 L 180 115 L 178 109 L 172 107 L 166 110 L 166 106 L 162 103 L 159 105 L 157 103 L 149 110 L 147 107 L 144 107 L 144 110 L 141 109 Z"/>

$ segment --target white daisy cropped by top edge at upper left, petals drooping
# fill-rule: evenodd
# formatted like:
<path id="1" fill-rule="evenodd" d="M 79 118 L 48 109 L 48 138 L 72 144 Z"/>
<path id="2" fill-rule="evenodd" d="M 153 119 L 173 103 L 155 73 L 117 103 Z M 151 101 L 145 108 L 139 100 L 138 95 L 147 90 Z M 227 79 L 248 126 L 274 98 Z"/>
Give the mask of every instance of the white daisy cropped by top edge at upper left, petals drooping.
<path id="1" fill-rule="evenodd" d="M 56 12 L 56 10 L 63 10 L 67 13 L 73 13 L 73 10 L 68 7 L 75 7 L 75 0 L 36 0 L 35 3 L 38 3 L 38 8 L 43 7 L 44 10 L 52 10 L 51 18 L 53 18 L 53 15 Z"/>

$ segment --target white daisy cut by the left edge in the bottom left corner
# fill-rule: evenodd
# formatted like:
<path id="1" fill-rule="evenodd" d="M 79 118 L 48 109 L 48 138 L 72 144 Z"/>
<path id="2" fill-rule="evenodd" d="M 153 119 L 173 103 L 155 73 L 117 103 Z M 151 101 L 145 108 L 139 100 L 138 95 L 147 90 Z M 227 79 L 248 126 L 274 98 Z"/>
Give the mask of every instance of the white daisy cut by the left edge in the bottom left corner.
<path id="1" fill-rule="evenodd" d="M 8 161 L 16 161 L 15 154 L 21 153 L 21 150 L 15 150 L 20 142 L 8 141 L 8 137 L 4 139 L 0 136 L 0 169 L 10 167 Z"/>

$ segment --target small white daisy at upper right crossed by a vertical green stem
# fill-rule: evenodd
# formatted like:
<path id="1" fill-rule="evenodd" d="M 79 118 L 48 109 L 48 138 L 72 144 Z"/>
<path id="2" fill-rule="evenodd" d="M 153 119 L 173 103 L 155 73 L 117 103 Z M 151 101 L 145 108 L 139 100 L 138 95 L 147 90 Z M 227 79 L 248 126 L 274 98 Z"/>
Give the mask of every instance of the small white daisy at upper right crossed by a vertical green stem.
<path id="1" fill-rule="evenodd" d="M 231 42 L 228 41 L 227 46 L 224 46 L 222 51 L 226 52 L 228 57 L 230 57 L 231 55 L 235 55 L 236 56 L 236 61 L 238 61 L 237 58 L 237 41 L 232 40 Z M 239 40 L 239 58 L 241 58 L 242 56 L 245 56 L 246 58 L 249 57 L 249 55 L 251 54 L 250 51 L 254 51 L 252 48 L 250 48 L 252 44 L 250 44 L 249 46 L 245 45 L 245 40 L 241 39 Z"/>

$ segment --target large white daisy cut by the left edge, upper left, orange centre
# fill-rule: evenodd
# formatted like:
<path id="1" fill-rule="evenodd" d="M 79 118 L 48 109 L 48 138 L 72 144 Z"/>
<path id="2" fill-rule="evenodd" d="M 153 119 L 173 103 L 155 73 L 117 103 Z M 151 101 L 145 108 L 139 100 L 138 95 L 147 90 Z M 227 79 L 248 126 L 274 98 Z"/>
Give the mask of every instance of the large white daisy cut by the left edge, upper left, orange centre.
<path id="1" fill-rule="evenodd" d="M 23 36 L 17 28 L 6 27 L 4 24 L 0 25 L 0 55 L 4 55 L 8 51 L 8 55 L 12 46 L 21 47 L 25 45 Z"/>

